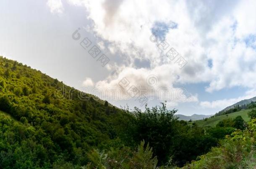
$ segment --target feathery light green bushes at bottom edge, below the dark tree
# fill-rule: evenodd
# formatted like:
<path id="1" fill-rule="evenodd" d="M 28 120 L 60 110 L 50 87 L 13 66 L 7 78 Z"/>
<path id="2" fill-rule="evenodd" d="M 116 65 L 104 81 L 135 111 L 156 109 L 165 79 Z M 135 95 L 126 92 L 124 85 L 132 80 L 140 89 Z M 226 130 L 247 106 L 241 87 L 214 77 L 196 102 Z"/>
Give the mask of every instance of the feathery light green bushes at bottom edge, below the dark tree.
<path id="1" fill-rule="evenodd" d="M 152 148 L 149 147 L 149 144 L 145 146 L 145 141 L 141 141 L 137 151 L 133 152 L 127 147 L 117 150 L 111 148 L 106 154 L 104 151 L 100 152 L 94 149 L 89 154 L 89 160 L 89 164 L 82 167 L 83 169 L 157 169 L 157 158 L 153 157 Z"/>

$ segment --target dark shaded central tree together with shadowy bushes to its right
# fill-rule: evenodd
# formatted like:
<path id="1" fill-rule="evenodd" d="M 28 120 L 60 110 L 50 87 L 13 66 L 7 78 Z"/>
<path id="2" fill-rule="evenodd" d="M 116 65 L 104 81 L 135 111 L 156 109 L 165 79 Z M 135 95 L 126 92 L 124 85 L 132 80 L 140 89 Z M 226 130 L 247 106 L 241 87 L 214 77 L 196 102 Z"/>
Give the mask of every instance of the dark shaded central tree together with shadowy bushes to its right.
<path id="1" fill-rule="evenodd" d="M 177 110 L 167 110 L 166 104 L 141 111 L 135 108 L 136 120 L 128 126 L 135 143 L 145 140 L 152 146 L 159 164 L 172 159 L 172 165 L 183 166 L 197 156 L 207 153 L 217 146 L 220 139 L 234 131 L 233 128 L 211 128 L 205 130 L 196 124 L 188 125 L 174 116 Z"/>

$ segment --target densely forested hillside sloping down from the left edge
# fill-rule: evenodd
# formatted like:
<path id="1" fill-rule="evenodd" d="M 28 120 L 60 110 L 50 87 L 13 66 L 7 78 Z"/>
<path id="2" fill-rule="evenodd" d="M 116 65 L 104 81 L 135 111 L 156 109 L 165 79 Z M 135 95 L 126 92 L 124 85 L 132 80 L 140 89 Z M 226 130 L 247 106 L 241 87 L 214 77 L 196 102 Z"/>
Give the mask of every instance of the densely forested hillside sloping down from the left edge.
<path id="1" fill-rule="evenodd" d="M 91 149 L 127 133 L 133 119 L 95 96 L 3 57 L 0 111 L 15 119 L 1 115 L 0 168 L 51 168 L 64 162 L 83 166 Z"/>

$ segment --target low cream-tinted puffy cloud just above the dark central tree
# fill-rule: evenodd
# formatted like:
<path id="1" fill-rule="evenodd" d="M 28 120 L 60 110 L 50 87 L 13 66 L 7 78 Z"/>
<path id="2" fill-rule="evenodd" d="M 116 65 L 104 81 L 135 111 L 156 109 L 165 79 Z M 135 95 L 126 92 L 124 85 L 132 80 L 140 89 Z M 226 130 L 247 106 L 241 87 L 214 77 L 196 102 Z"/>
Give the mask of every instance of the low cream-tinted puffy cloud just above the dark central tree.
<path id="1" fill-rule="evenodd" d="M 176 77 L 169 77 L 170 67 L 162 65 L 152 70 L 146 68 L 123 67 L 118 76 L 109 76 L 95 85 L 98 93 L 92 93 L 107 100 L 130 100 L 146 97 L 149 100 L 197 102 L 198 96 L 192 95 L 185 88 L 170 86 Z"/>

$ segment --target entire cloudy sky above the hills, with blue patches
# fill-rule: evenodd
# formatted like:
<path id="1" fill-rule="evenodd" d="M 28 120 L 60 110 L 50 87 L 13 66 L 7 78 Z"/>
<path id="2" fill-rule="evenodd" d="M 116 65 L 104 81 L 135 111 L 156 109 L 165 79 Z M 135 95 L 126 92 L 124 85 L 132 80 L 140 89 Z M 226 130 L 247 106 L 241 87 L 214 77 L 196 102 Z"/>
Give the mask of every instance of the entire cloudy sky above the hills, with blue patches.
<path id="1" fill-rule="evenodd" d="M 115 106 L 256 96 L 254 0 L 1 0 L 0 55 Z"/>

